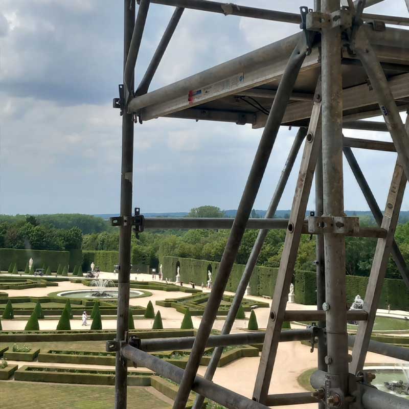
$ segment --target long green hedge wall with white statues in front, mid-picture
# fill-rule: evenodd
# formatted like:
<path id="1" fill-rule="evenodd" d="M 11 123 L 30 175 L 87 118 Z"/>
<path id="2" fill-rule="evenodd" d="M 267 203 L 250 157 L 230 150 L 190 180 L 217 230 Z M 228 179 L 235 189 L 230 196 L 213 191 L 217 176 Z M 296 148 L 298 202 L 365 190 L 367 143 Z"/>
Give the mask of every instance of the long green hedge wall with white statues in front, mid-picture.
<path id="1" fill-rule="evenodd" d="M 195 260 L 165 256 L 162 259 L 164 278 L 175 281 L 177 262 L 180 263 L 180 278 L 184 283 L 196 285 L 208 281 L 208 267 L 212 267 L 212 280 L 216 278 L 219 264 L 216 261 Z M 232 274 L 226 285 L 227 291 L 236 291 L 244 271 L 243 264 L 234 264 Z M 251 293 L 255 296 L 272 297 L 277 279 L 278 268 L 256 266 L 250 279 Z"/>

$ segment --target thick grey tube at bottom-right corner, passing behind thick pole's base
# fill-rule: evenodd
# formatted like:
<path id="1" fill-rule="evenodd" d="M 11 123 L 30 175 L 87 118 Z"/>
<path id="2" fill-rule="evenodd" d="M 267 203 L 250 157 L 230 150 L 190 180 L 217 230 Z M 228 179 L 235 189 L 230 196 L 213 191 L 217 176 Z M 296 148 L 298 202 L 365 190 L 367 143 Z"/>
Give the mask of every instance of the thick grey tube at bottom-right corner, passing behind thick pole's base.
<path id="1" fill-rule="evenodd" d="M 324 371 L 315 371 L 311 375 L 311 386 L 314 389 L 323 388 L 325 385 Z M 407 399 L 400 398 L 396 395 L 387 392 L 378 391 L 376 388 L 370 387 L 363 383 L 358 383 L 357 386 L 361 389 L 362 407 L 364 409 L 407 409 Z M 358 406 L 360 402 L 357 402 Z M 361 406 L 359 406 L 361 407 Z"/>

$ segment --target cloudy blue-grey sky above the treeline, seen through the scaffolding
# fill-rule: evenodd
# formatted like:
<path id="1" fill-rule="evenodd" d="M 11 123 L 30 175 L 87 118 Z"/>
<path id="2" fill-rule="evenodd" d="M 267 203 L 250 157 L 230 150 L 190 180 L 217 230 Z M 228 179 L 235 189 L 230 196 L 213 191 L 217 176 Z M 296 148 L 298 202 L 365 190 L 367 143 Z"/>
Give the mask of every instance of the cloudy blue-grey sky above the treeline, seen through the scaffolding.
<path id="1" fill-rule="evenodd" d="M 312 1 L 242 0 L 299 12 Z M 2 0 L 0 213 L 118 213 L 123 2 Z M 139 82 L 173 12 L 151 5 L 135 73 Z M 408 14 L 404 0 L 368 12 Z M 185 10 L 150 90 L 298 32 L 297 25 Z M 236 209 L 262 129 L 160 118 L 135 125 L 133 205 L 142 213 L 203 205 Z M 266 209 L 297 128 L 281 127 L 254 208 Z M 346 136 L 389 141 L 387 133 Z M 384 207 L 396 154 L 355 150 Z M 279 209 L 290 209 L 300 158 Z M 347 210 L 368 210 L 344 163 Z M 314 207 L 313 195 L 309 208 Z M 409 210 L 409 196 L 403 201 Z"/>

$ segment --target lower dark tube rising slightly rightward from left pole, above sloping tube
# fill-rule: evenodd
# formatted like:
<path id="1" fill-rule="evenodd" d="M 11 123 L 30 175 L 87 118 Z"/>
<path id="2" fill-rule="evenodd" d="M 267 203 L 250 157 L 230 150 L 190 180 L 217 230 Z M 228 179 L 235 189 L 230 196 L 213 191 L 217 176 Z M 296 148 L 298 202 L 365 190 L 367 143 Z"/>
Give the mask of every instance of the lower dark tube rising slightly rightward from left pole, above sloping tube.
<path id="1" fill-rule="evenodd" d="M 283 330 L 280 342 L 303 341 L 311 339 L 312 328 Z M 240 334 L 211 335 L 207 347 L 228 347 L 231 345 L 262 344 L 265 332 L 246 332 Z M 173 349 L 191 349 L 194 336 L 178 338 L 142 339 L 139 349 L 146 352 L 171 351 Z"/>

